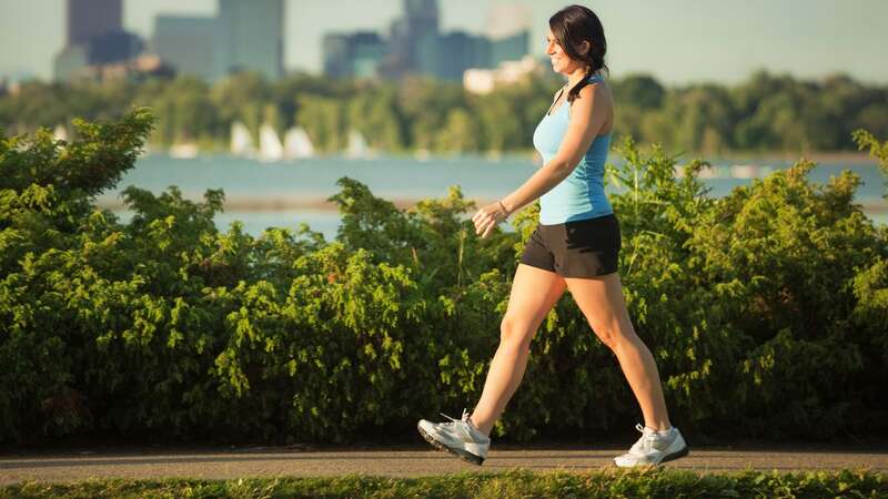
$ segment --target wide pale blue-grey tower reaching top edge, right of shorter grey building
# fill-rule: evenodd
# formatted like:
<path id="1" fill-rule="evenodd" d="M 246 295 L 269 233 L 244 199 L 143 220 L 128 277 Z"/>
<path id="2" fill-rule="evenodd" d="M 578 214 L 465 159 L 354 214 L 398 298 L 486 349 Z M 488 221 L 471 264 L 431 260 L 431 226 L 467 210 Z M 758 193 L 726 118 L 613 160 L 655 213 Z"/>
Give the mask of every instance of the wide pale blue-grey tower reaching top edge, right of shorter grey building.
<path id="1" fill-rule="evenodd" d="M 215 64 L 220 74 L 283 75 L 283 0 L 219 0 Z"/>

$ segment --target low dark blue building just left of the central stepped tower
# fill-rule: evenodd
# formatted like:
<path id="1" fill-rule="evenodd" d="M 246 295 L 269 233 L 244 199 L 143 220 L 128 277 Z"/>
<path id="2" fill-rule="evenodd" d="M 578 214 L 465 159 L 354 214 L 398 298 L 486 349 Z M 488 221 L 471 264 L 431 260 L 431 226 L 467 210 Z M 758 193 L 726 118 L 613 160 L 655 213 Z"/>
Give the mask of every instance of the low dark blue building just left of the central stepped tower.
<path id="1" fill-rule="evenodd" d="M 376 78 L 386 43 L 376 33 L 330 33 L 323 40 L 324 73 L 333 78 Z"/>

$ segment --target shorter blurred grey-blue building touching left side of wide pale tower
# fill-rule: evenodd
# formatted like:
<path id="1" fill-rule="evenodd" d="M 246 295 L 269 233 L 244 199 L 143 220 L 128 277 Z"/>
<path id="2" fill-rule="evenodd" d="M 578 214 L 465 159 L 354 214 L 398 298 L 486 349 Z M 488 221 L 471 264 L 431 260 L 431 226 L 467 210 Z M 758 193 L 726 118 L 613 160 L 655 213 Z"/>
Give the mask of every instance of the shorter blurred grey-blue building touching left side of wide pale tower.
<path id="1" fill-rule="evenodd" d="M 176 73 L 215 80 L 215 18 L 158 16 L 151 47 Z"/>

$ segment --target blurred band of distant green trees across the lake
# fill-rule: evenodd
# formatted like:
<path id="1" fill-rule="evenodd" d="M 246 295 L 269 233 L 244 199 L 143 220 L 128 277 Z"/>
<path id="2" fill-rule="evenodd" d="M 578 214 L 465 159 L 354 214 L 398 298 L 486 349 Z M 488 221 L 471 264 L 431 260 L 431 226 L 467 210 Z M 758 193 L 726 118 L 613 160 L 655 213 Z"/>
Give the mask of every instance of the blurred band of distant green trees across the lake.
<path id="1" fill-rule="evenodd" d="M 155 110 L 149 142 L 160 146 L 225 149 L 232 123 L 240 121 L 254 139 L 263 122 L 279 133 L 301 125 L 322 153 L 342 151 L 351 131 L 392 153 L 522 151 L 561 84 L 549 74 L 475 95 L 461 84 L 423 78 L 394 83 L 296 74 L 271 82 L 238 73 L 212 86 L 190 77 L 77 86 L 32 82 L 0 96 L 0 123 L 9 133 L 31 132 L 72 116 L 120 118 L 132 103 Z M 669 150 L 808 153 L 852 150 L 857 129 L 888 136 L 888 89 L 841 74 L 801 81 L 763 71 L 733 86 L 676 88 L 630 74 L 610 84 L 616 133 Z"/>

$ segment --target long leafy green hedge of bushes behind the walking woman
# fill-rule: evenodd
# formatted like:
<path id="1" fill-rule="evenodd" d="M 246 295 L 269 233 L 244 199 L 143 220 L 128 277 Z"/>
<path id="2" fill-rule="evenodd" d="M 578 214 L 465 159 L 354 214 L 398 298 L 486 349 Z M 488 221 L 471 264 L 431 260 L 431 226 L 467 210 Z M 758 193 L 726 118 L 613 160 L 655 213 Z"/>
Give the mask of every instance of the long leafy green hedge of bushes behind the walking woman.
<path id="1" fill-rule="evenodd" d="M 0 441 L 112 432 L 148 438 L 351 441 L 477 400 L 500 337 L 517 232 L 481 240 L 453 187 L 410 211 L 343 177 L 335 241 L 307 226 L 259 237 L 176 187 L 94 196 L 152 128 L 135 110 L 0 141 Z M 886 167 L 886 147 L 861 146 Z M 704 436 L 826 438 L 885 428 L 888 232 L 845 173 L 799 162 L 713 200 L 692 162 L 626 141 L 620 275 L 673 420 Z M 879 154 L 881 154 L 879 156 Z M 569 295 L 532 345 L 497 436 L 610 430 L 638 416 L 615 356 Z"/>

